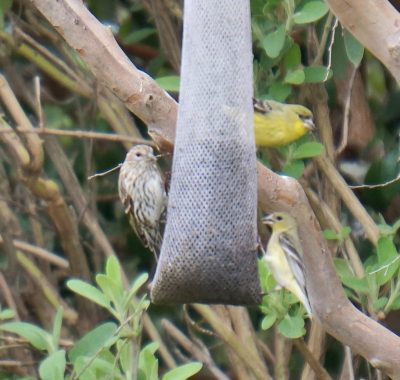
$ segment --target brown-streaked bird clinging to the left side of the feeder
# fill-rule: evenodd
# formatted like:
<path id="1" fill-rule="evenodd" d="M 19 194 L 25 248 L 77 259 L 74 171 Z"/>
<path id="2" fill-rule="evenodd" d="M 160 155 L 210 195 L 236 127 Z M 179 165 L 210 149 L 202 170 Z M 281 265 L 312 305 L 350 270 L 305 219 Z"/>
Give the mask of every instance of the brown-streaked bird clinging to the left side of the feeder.
<path id="1" fill-rule="evenodd" d="M 161 247 L 160 221 L 167 205 L 157 157 L 148 145 L 135 145 L 126 155 L 118 178 L 118 194 L 136 235 L 155 256 Z"/>

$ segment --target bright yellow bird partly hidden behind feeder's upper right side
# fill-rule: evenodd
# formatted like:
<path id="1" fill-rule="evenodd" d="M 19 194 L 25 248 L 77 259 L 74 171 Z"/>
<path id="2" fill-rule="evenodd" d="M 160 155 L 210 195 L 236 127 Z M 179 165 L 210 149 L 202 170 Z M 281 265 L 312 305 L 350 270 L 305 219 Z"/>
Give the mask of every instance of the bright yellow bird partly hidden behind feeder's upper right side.
<path id="1" fill-rule="evenodd" d="M 256 145 L 278 148 L 315 130 L 312 112 L 298 104 L 253 98 Z"/>

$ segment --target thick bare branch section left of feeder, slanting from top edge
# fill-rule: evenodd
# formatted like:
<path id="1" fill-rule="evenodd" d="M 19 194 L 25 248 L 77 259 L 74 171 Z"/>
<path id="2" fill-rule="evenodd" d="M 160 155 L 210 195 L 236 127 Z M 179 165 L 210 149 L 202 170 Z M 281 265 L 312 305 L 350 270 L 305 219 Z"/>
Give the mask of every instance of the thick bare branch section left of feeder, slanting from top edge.
<path id="1" fill-rule="evenodd" d="M 100 24 L 79 0 L 31 0 L 86 62 L 94 75 L 149 127 L 158 145 L 171 148 L 176 102 L 138 70 L 116 43 L 111 28 Z"/>

